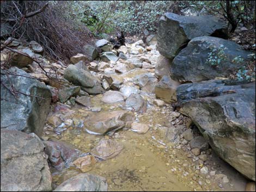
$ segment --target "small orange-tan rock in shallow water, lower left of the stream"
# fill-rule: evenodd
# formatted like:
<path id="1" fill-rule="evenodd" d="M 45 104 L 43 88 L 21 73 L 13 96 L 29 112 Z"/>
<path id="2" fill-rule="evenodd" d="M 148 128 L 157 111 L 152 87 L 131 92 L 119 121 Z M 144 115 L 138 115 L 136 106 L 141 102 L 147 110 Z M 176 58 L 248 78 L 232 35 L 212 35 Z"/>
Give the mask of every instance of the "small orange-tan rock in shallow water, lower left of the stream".
<path id="1" fill-rule="evenodd" d="M 88 172 L 93 169 L 96 164 L 96 159 L 94 156 L 84 156 L 76 159 L 72 165 L 75 165 L 82 172 Z"/>

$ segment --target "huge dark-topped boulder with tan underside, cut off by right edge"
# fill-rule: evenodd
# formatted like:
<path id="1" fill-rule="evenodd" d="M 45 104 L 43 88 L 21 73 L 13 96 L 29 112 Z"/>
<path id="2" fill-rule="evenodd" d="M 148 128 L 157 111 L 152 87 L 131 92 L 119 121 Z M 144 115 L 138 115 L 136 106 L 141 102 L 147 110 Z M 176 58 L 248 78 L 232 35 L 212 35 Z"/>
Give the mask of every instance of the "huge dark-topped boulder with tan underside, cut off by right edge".
<path id="1" fill-rule="evenodd" d="M 209 80 L 176 92 L 182 113 L 218 156 L 255 181 L 255 82 Z"/>

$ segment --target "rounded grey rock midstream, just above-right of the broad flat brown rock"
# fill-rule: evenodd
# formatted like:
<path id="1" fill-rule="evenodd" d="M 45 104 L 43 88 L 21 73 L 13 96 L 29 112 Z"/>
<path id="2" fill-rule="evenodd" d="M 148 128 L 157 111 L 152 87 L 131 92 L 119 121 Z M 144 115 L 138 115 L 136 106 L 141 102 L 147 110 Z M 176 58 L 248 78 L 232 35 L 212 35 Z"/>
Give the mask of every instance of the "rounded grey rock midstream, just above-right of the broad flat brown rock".
<path id="1" fill-rule="evenodd" d="M 141 95 L 131 94 L 125 101 L 125 107 L 132 110 L 132 112 L 145 113 L 147 103 Z"/>

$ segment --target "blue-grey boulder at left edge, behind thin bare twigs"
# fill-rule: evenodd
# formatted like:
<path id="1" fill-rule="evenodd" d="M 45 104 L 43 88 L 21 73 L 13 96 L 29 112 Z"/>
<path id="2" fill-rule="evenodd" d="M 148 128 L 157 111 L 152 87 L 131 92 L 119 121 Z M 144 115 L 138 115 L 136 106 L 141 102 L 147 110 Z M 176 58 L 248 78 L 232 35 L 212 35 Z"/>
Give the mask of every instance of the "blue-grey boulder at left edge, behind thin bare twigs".
<path id="1" fill-rule="evenodd" d="M 34 132 L 40 137 L 50 103 L 51 91 L 39 80 L 17 67 L 1 70 L 1 129 Z"/>

